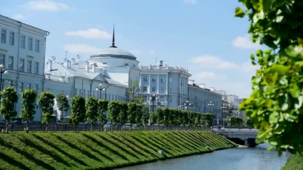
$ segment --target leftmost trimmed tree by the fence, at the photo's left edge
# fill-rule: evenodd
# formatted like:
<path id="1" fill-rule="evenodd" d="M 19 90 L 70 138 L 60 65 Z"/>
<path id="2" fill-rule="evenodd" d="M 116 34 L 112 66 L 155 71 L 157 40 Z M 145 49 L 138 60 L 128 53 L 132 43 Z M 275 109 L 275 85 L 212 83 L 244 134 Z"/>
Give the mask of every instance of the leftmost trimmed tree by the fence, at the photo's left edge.
<path id="1" fill-rule="evenodd" d="M 2 117 L 6 120 L 5 132 L 8 133 L 8 121 L 11 117 L 17 115 L 15 111 L 15 103 L 18 101 L 17 91 L 13 87 L 3 88 L 1 92 L 1 107 L 0 113 Z"/>

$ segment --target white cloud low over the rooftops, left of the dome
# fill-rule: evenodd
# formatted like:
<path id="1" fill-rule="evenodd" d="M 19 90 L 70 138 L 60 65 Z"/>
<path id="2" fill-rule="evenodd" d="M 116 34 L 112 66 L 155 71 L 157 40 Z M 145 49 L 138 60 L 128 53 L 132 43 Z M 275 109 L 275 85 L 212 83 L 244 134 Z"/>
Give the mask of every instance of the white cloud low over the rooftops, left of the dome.
<path id="1" fill-rule="evenodd" d="M 87 44 L 64 44 L 64 50 L 74 54 L 97 54 L 98 52 L 100 52 L 101 49 Z"/>

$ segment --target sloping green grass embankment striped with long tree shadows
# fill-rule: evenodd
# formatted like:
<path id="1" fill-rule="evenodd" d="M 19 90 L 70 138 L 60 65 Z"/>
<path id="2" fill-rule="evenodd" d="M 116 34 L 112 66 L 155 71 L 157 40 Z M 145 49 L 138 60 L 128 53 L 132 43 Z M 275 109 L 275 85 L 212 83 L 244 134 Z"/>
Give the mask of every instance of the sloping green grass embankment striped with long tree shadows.
<path id="1" fill-rule="evenodd" d="M 10 133 L 0 134 L 0 169 L 111 169 L 235 146 L 209 131 Z"/>

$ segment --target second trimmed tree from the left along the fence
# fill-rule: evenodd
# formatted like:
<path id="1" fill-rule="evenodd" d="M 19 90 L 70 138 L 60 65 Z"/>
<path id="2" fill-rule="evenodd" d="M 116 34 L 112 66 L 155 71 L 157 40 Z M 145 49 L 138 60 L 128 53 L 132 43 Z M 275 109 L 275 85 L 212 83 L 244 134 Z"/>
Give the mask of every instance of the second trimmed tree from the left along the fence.
<path id="1" fill-rule="evenodd" d="M 29 131 L 29 121 L 34 118 L 36 96 L 37 93 L 34 89 L 25 89 L 23 92 L 21 92 L 22 108 L 20 110 L 20 118 L 23 121 L 27 121 L 26 132 Z"/>

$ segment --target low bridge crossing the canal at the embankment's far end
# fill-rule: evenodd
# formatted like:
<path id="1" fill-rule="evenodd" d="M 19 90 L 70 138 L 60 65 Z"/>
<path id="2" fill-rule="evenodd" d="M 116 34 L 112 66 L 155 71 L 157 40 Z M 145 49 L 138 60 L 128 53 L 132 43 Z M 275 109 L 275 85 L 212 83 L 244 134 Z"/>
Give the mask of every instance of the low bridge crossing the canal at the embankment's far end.
<path id="1" fill-rule="evenodd" d="M 258 129 L 250 128 L 212 128 L 212 131 L 226 138 L 244 138 L 244 145 L 248 147 L 256 146 L 256 138 L 259 133 Z"/>

